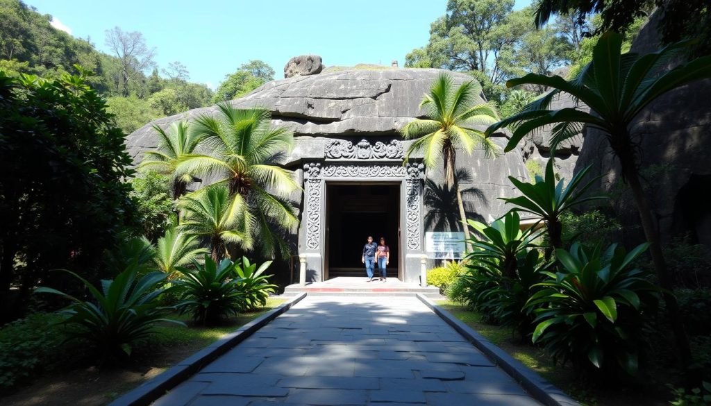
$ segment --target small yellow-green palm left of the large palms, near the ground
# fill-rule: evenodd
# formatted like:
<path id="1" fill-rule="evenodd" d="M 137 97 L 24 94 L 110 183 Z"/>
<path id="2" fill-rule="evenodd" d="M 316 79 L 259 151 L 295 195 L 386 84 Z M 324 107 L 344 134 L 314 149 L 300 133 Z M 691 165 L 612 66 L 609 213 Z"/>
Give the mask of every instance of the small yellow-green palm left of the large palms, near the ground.
<path id="1" fill-rule="evenodd" d="M 172 275 L 176 267 L 184 267 L 209 253 L 206 248 L 199 247 L 197 235 L 171 227 L 158 239 L 153 260 L 161 272 Z"/>

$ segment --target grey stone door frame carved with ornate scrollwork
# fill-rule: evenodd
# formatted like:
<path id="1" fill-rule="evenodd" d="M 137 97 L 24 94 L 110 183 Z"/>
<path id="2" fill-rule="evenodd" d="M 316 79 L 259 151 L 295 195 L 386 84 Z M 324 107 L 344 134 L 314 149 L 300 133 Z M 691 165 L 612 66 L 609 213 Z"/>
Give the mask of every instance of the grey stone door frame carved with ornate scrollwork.
<path id="1" fill-rule="evenodd" d="M 389 183 L 400 185 L 399 263 L 402 280 L 419 282 L 422 243 L 422 178 L 424 164 L 402 165 L 402 141 L 392 139 L 357 144 L 332 139 L 324 146 L 324 159 L 304 164 L 304 215 L 299 232 L 299 254 L 306 255 L 307 280 L 326 278 L 326 186 L 328 183 Z M 358 247 L 355 248 L 358 250 Z"/>

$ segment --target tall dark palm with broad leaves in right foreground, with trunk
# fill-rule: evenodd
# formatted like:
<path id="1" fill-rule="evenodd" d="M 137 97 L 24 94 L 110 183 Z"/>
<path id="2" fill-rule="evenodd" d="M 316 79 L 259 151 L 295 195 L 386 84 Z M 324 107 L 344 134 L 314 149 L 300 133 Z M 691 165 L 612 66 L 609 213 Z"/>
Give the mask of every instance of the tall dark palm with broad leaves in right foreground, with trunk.
<path id="1" fill-rule="evenodd" d="M 678 56 L 687 43 L 675 43 L 655 53 L 621 55 L 622 39 L 618 33 L 604 33 L 593 50 L 593 60 L 577 75 L 566 81 L 560 76 L 529 74 L 506 82 L 508 87 L 533 84 L 551 87 L 553 90 L 531 102 L 518 114 L 492 125 L 487 136 L 502 127 L 513 127 L 513 135 L 506 151 L 515 148 L 530 132 L 544 126 L 553 126 L 550 133 L 550 148 L 555 151 L 562 141 L 574 137 L 582 125 L 599 129 L 605 134 L 612 151 L 619 159 L 621 174 L 634 196 L 641 218 L 642 228 L 650 254 L 664 289 L 664 299 L 669 309 L 671 323 L 677 336 L 680 353 L 685 365 L 690 360 L 690 350 L 678 305 L 671 292 L 671 279 L 659 244 L 651 208 L 639 179 L 638 141 L 630 131 L 631 124 L 645 107 L 665 92 L 696 80 L 711 78 L 711 56 L 697 58 L 679 65 L 666 73 L 660 69 L 670 58 Z M 575 108 L 551 110 L 553 97 L 566 92 L 590 107 L 584 112 Z"/>

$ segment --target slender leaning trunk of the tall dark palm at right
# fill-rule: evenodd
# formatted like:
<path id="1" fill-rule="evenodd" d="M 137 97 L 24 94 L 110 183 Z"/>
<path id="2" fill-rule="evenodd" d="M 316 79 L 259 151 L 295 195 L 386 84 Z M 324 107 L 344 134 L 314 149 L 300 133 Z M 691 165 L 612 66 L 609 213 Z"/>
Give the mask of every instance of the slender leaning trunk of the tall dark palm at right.
<path id="1" fill-rule="evenodd" d="M 624 136 L 624 139 L 629 140 L 629 134 L 624 134 Z M 647 197 L 645 196 L 641 182 L 639 181 L 639 173 L 635 165 L 636 156 L 634 154 L 634 149 L 631 144 L 627 142 L 623 147 L 615 149 L 615 152 L 617 156 L 619 156 L 620 164 L 622 166 L 622 173 L 624 174 L 624 178 L 629 184 L 632 195 L 634 196 L 634 203 L 639 212 L 644 235 L 650 243 L 649 254 L 652 257 L 654 270 L 659 281 L 659 287 L 663 289 L 662 294 L 668 310 L 669 321 L 676 338 L 681 363 L 684 368 L 688 369 L 688 366 L 691 363 L 689 338 L 681 319 L 676 297 L 674 297 L 671 293 L 673 288 L 671 278 L 664 260 L 664 255 L 659 241 L 659 234 L 654 224 L 651 208 L 649 207 Z"/>

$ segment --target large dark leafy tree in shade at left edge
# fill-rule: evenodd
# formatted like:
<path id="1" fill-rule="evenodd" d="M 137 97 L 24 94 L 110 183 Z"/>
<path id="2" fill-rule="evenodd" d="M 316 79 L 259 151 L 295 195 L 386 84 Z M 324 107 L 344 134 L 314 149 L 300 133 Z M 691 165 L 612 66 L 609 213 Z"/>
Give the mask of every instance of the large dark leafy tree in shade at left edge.
<path id="1" fill-rule="evenodd" d="M 105 101 L 80 76 L 0 71 L 0 322 L 19 316 L 50 269 L 95 279 L 102 252 L 134 225 L 132 159 Z M 11 292 L 11 286 L 18 290 Z"/>

